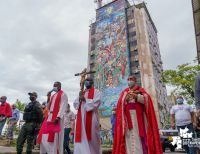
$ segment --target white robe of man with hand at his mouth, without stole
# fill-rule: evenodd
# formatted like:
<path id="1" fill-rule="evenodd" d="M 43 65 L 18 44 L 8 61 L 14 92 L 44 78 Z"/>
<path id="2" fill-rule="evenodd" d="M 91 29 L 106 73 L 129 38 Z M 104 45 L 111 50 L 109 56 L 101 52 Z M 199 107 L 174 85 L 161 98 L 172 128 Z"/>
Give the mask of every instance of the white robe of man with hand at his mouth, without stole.
<path id="1" fill-rule="evenodd" d="M 52 98 L 52 103 L 51 103 L 47 121 L 52 120 L 52 111 L 54 109 L 57 94 L 58 93 L 56 93 Z M 58 151 L 59 151 L 59 154 L 64 153 L 63 152 L 64 114 L 66 112 L 67 104 L 68 104 L 68 98 L 67 98 L 67 95 L 63 92 L 61 96 L 60 109 L 57 115 L 57 117 L 60 118 L 61 131 L 60 133 L 55 133 L 54 142 L 48 142 L 48 136 L 49 136 L 48 134 L 42 135 L 42 141 L 40 144 L 40 154 L 57 154 Z"/>

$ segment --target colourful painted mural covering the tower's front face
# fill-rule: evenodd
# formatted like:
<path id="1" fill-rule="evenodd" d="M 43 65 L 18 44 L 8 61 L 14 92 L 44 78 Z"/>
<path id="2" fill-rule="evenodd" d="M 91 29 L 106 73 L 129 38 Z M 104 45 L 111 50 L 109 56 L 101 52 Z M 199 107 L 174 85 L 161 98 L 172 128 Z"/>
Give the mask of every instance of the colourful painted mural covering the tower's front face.
<path id="1" fill-rule="evenodd" d="M 130 72 L 123 0 L 97 10 L 95 35 L 95 87 L 102 91 L 102 115 L 109 116 Z"/>

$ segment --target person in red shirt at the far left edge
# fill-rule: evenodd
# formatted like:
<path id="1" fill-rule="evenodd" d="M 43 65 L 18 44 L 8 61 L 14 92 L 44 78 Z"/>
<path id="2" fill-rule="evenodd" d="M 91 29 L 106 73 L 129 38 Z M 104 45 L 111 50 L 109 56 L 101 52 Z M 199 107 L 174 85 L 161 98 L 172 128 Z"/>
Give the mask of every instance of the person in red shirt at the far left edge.
<path id="1" fill-rule="evenodd" d="M 7 97 L 1 96 L 0 98 L 0 136 L 2 134 L 3 127 L 6 123 L 6 119 L 12 117 L 12 109 L 8 102 L 6 102 Z"/>

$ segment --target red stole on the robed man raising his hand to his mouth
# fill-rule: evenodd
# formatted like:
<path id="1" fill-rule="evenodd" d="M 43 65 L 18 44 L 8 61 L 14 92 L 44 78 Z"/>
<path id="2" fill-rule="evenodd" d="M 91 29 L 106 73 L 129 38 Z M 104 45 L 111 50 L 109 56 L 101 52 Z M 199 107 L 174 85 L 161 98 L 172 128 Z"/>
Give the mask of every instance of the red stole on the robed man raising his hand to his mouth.
<path id="1" fill-rule="evenodd" d="M 60 110 L 60 101 L 61 101 L 62 94 L 63 94 L 63 91 L 60 90 L 58 92 L 57 96 L 56 96 L 56 100 L 55 100 L 53 112 L 49 113 L 49 114 L 52 114 L 51 122 L 54 122 L 56 120 L 56 118 L 57 118 L 58 112 Z M 52 101 L 53 101 L 54 97 L 55 97 L 55 94 L 50 99 L 49 109 L 51 108 Z M 38 144 L 40 144 L 41 141 L 42 141 L 42 134 L 43 134 L 43 132 L 42 132 L 43 129 L 42 128 L 43 128 L 43 125 L 45 125 L 47 123 L 47 119 L 48 119 L 48 117 L 42 123 L 41 129 L 40 129 L 40 132 L 39 132 L 39 135 L 38 135 Z M 49 133 L 49 135 L 48 135 L 48 142 L 54 142 L 54 137 L 55 137 L 55 133 Z"/>

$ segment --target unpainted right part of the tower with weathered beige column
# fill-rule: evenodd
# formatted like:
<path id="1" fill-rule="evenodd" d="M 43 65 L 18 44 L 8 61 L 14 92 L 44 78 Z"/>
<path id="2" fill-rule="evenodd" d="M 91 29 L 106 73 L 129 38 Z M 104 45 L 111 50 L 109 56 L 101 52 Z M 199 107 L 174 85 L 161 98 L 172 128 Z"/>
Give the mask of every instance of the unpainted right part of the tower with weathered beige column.
<path id="1" fill-rule="evenodd" d="M 166 122 L 166 87 L 161 81 L 162 60 L 157 30 L 144 3 L 127 9 L 131 72 L 151 95 L 159 126 Z"/>

